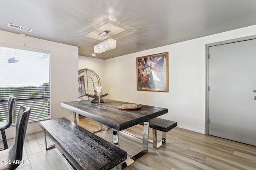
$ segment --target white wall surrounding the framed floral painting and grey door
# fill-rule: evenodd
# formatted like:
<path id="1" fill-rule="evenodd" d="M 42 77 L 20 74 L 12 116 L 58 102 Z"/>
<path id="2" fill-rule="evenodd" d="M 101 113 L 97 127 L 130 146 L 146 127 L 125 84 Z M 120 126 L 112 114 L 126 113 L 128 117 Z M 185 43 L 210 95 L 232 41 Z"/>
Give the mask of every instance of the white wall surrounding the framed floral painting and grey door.
<path id="1" fill-rule="evenodd" d="M 106 60 L 106 98 L 168 108 L 178 127 L 204 133 L 205 45 L 256 35 L 256 25 Z M 136 57 L 169 52 L 169 92 L 136 90 Z M 80 61 L 79 61 L 80 62 Z"/>

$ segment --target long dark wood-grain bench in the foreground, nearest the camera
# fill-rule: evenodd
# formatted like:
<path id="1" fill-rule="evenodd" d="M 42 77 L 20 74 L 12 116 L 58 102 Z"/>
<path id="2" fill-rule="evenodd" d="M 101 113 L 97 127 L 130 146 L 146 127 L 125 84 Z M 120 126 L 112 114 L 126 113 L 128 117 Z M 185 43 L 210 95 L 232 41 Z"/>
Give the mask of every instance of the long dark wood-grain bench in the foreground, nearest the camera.
<path id="1" fill-rule="evenodd" d="M 40 127 L 77 170 L 108 170 L 126 160 L 127 153 L 62 117 L 41 121 Z"/>

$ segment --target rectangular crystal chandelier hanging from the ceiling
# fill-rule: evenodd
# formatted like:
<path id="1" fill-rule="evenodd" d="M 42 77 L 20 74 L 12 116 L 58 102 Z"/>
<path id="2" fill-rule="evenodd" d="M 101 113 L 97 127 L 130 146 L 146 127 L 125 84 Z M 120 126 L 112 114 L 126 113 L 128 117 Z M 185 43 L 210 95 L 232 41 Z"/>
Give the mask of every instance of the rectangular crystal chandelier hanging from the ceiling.
<path id="1" fill-rule="evenodd" d="M 100 33 L 99 35 L 100 36 L 104 36 L 107 35 L 108 31 L 104 31 L 102 33 Z M 103 38 L 103 41 L 97 45 L 94 46 L 94 53 L 97 53 L 97 54 L 100 54 L 100 53 L 103 53 L 105 51 L 108 51 L 108 50 L 112 50 L 116 48 L 116 40 L 115 39 L 107 39 L 107 40 L 104 40 Z"/>

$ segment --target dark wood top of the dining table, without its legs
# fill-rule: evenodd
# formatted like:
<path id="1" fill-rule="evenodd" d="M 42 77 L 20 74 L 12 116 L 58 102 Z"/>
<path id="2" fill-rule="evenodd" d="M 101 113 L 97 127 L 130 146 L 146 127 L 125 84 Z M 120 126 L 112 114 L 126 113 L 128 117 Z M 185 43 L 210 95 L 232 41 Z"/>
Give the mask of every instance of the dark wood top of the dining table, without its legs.
<path id="1" fill-rule="evenodd" d="M 61 106 L 104 125 L 122 131 L 128 127 L 148 121 L 168 112 L 168 109 L 142 105 L 138 109 L 120 109 L 118 105 L 128 102 L 104 99 L 104 104 L 90 103 L 90 100 L 63 102 Z"/>

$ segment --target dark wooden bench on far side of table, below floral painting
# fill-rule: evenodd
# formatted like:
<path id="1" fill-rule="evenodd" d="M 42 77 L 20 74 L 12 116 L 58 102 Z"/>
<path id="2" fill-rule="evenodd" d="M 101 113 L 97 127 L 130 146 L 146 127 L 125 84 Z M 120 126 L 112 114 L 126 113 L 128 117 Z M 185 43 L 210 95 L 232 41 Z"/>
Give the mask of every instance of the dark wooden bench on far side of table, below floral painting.
<path id="1" fill-rule="evenodd" d="M 143 122 L 140 123 L 140 125 L 143 125 Z M 166 132 L 170 131 L 176 126 L 176 121 L 170 121 L 158 117 L 150 119 L 149 127 L 152 128 L 153 131 L 153 148 L 158 149 L 159 147 L 164 145 L 166 143 Z M 162 131 L 162 141 L 159 143 L 157 142 L 157 130 Z"/>

